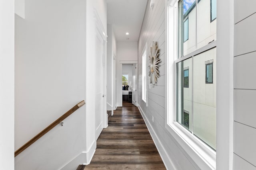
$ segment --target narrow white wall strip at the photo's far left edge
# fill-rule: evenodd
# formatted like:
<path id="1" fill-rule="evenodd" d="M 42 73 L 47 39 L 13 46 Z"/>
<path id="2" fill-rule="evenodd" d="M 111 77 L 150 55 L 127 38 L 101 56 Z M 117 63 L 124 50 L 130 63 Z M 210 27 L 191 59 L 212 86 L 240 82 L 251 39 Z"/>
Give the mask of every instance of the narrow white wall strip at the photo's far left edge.
<path id="1" fill-rule="evenodd" d="M 0 0 L 0 168 L 14 170 L 14 0 Z"/>

